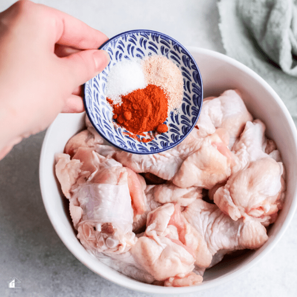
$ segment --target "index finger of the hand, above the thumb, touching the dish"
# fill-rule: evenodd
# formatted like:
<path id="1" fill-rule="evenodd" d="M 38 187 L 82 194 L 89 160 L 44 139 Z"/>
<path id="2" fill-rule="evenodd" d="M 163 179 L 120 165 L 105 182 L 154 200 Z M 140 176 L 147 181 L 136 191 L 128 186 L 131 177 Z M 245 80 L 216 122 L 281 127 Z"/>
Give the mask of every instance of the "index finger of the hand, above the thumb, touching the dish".
<path id="1" fill-rule="evenodd" d="M 54 30 L 54 43 L 75 49 L 98 49 L 108 37 L 83 21 L 55 8 L 38 4 L 46 9 L 49 26 Z"/>

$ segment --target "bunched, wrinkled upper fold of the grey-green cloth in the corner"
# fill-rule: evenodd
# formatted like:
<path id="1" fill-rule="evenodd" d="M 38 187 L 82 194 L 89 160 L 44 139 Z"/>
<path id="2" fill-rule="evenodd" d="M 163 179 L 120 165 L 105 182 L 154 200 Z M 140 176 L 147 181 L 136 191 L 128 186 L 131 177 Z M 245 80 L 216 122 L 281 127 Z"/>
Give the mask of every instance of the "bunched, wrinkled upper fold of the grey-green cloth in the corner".
<path id="1" fill-rule="evenodd" d="M 259 47 L 284 72 L 297 76 L 297 1 L 239 0 L 238 13 Z"/>

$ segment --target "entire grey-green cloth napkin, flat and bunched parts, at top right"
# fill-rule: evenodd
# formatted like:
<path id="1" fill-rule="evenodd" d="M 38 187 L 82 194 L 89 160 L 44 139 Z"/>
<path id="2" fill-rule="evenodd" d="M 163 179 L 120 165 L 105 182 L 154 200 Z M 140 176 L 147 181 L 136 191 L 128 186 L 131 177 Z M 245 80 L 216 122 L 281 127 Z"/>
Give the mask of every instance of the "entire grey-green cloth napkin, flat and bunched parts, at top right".
<path id="1" fill-rule="evenodd" d="M 297 124 L 296 1 L 219 0 L 218 9 L 226 54 L 259 74 Z"/>

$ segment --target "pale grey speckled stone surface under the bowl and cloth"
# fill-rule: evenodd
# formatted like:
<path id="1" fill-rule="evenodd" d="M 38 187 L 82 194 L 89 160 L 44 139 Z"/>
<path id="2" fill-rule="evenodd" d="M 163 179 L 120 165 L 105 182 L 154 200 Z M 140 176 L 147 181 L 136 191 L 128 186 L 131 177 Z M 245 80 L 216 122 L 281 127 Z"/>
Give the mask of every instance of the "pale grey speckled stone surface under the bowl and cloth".
<path id="1" fill-rule="evenodd" d="M 13 2 L 0 1 L 0 11 Z M 36 2 L 63 10 L 109 37 L 145 28 L 168 34 L 185 46 L 225 52 L 215 0 Z M 24 140 L 0 161 L 0 297 L 154 296 L 99 277 L 58 238 L 39 187 L 39 155 L 44 135 L 43 132 Z M 297 215 L 278 245 L 247 272 L 226 284 L 188 296 L 297 296 L 296 230 Z M 13 277 L 20 281 L 16 283 L 18 289 L 8 288 Z"/>

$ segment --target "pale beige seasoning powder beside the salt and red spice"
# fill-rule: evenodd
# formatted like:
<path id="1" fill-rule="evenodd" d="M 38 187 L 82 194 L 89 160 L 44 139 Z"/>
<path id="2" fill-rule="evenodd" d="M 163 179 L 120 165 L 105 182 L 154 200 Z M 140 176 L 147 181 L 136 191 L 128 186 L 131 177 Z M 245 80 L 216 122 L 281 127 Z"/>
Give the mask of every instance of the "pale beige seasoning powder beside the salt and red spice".
<path id="1" fill-rule="evenodd" d="M 168 112 L 176 111 L 183 100 L 182 73 L 172 61 L 161 55 L 153 55 L 142 61 L 147 84 L 163 89 L 168 96 Z"/>

